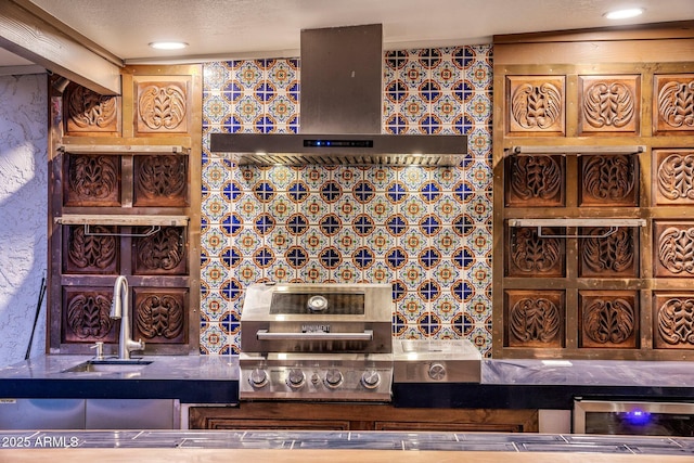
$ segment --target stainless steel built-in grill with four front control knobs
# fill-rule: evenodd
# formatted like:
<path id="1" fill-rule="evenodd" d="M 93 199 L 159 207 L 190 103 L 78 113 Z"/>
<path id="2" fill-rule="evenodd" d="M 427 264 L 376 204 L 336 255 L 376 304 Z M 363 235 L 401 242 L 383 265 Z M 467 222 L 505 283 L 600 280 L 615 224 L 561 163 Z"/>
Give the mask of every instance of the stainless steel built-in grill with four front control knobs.
<path id="1" fill-rule="evenodd" d="M 389 401 L 389 284 L 254 284 L 241 314 L 241 400 Z"/>

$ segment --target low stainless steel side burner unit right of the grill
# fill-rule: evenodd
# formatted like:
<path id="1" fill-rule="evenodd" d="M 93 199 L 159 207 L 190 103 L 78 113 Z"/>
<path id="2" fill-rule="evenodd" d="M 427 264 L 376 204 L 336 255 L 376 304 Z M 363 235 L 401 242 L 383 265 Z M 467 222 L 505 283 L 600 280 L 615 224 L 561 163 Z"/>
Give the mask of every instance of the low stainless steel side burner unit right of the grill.
<path id="1" fill-rule="evenodd" d="M 478 383 L 481 353 L 468 339 L 394 339 L 395 383 Z"/>

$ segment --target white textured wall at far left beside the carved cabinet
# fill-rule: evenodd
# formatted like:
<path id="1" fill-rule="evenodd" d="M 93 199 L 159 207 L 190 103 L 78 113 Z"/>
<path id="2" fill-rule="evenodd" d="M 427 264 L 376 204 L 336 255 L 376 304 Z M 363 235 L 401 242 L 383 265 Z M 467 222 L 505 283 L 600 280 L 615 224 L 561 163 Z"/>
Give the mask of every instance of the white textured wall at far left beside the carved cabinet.
<path id="1" fill-rule="evenodd" d="M 0 76 L 0 366 L 24 360 L 46 275 L 46 75 Z M 44 351 L 46 300 L 31 356 Z"/>

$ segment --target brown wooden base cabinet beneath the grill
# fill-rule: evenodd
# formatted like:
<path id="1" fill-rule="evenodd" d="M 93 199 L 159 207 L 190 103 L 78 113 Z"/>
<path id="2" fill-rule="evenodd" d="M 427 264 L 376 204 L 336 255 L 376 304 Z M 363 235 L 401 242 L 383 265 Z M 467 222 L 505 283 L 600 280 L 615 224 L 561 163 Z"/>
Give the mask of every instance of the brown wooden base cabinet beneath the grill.
<path id="1" fill-rule="evenodd" d="M 244 402 L 191 407 L 191 429 L 537 433 L 537 410 L 403 409 L 390 404 Z"/>

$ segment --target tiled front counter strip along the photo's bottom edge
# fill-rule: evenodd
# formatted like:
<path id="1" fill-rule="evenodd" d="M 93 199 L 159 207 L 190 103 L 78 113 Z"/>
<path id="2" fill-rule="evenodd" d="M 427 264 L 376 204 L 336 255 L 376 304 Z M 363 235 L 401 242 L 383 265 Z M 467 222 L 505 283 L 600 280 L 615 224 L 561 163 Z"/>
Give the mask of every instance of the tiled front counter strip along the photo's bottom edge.
<path id="1" fill-rule="evenodd" d="M 4 440 L 3 440 L 4 439 Z M 597 436 L 524 433 L 397 433 L 316 430 L 76 430 L 0 432 L 7 448 L 63 446 L 91 449 L 256 449 L 256 450 L 390 450 L 454 452 L 562 452 L 588 454 L 681 455 L 694 458 L 694 438 Z M 36 443 L 39 443 L 37 446 Z M 14 443 L 14 445 L 10 445 Z M 17 445 L 18 443 L 18 445 Z M 98 454 L 97 454 L 98 455 Z M 384 454 L 385 456 L 385 454 Z M 519 455 L 518 455 L 519 456 Z M 323 454 L 324 459 L 329 459 Z M 463 461 L 459 455 L 455 461 Z M 514 456 L 511 456 L 514 459 Z M 233 459 L 232 459 L 233 460 Z M 264 460 L 265 461 L 265 460 Z M 323 460 L 311 460 L 323 461 Z M 355 461 L 355 460 L 351 460 Z M 390 461 L 385 459 L 384 461 Z M 429 460 L 432 461 L 432 460 Z M 436 459 L 434 459 L 436 461 Z M 485 460 L 488 461 L 488 460 Z M 557 461 L 557 460 L 552 460 Z M 561 460 L 565 461 L 565 460 Z M 600 460 L 607 461 L 607 460 Z M 639 460 L 644 461 L 644 460 Z"/>

